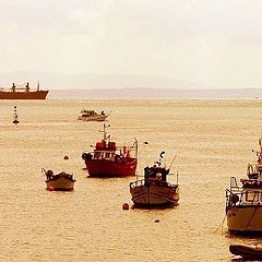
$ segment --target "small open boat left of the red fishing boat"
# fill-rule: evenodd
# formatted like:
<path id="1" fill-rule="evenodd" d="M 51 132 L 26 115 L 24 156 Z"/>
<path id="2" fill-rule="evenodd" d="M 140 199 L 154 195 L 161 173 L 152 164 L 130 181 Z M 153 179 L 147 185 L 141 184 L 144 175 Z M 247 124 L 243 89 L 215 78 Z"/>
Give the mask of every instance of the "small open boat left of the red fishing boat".
<path id="1" fill-rule="evenodd" d="M 70 191 L 73 190 L 74 182 L 73 175 L 61 171 L 57 175 L 52 170 L 45 170 L 43 172 L 46 175 L 46 186 L 47 190 L 55 191 Z"/>

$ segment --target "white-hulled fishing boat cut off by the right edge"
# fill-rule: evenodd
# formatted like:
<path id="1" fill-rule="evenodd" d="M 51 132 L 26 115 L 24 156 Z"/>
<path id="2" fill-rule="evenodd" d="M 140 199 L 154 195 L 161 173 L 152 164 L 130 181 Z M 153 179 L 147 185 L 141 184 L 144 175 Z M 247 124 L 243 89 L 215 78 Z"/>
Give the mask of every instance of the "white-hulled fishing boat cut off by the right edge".
<path id="1" fill-rule="evenodd" d="M 247 178 L 237 182 L 230 178 L 226 190 L 227 227 L 231 233 L 262 233 L 262 146 L 255 152 L 258 160 L 248 165 Z"/>

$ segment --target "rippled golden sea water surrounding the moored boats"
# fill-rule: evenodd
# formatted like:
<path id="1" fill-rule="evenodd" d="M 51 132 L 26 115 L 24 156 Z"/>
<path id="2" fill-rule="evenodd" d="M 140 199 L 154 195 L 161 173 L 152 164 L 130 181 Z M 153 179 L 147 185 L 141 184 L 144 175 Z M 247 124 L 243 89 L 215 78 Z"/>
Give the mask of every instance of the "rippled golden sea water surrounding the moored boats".
<path id="1" fill-rule="evenodd" d="M 140 174 L 160 151 L 167 165 L 177 154 L 179 206 L 122 211 L 135 178 L 87 178 L 81 154 L 100 140 L 102 123 L 79 122 L 82 107 L 110 111 L 119 145 L 139 140 Z M 230 243 L 262 243 L 229 236 L 226 223 L 214 233 L 229 177 L 255 159 L 261 109 L 258 99 L 1 100 L 0 261 L 231 261 Z M 41 168 L 72 171 L 75 190 L 45 190 Z"/>

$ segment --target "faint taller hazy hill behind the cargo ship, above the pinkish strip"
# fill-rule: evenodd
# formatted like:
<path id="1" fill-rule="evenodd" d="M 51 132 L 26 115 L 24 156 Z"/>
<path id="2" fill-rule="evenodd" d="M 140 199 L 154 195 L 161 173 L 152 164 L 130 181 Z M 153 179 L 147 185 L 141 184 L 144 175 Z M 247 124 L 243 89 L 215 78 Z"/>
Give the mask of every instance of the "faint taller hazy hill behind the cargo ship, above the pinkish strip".
<path id="1" fill-rule="evenodd" d="M 99 90 L 99 88 L 205 88 L 198 83 L 157 75 L 119 74 L 58 74 L 48 72 L 0 73 L 0 87 L 11 87 L 12 83 L 37 81 L 47 90 Z"/>

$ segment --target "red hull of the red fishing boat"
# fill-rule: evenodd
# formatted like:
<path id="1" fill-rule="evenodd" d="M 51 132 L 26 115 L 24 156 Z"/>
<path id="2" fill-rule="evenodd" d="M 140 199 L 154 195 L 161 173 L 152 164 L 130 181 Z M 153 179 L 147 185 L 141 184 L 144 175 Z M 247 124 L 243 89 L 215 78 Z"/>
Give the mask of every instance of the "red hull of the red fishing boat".
<path id="1" fill-rule="evenodd" d="M 90 177 L 129 177 L 135 176 L 138 160 L 85 159 L 85 165 Z"/>

